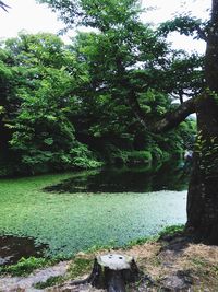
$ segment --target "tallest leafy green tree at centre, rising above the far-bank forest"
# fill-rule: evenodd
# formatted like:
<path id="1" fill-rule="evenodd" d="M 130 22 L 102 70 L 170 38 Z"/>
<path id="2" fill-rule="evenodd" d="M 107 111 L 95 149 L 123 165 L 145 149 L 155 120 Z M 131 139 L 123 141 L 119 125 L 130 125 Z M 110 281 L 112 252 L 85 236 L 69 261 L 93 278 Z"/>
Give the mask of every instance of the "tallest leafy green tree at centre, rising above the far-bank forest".
<path id="1" fill-rule="evenodd" d="M 105 5 L 106 2 L 109 5 L 111 1 L 105 1 Z M 121 7 L 124 3 L 125 1 L 119 1 Z M 96 23 L 100 23 L 99 31 L 78 34 L 72 46 L 78 61 L 86 66 L 89 73 L 87 84 L 77 93 L 83 110 L 76 118 L 81 121 L 78 128 L 84 129 L 82 133 L 86 135 L 86 140 L 95 139 L 95 144 L 100 144 L 104 140 L 104 145 L 110 147 L 110 151 L 105 152 L 117 151 L 114 156 L 120 155 L 119 143 L 125 144 L 125 150 L 132 151 L 132 154 L 135 150 L 146 149 L 154 159 L 162 161 L 169 157 L 169 152 L 172 155 L 182 152 L 181 135 L 177 135 L 180 130 L 166 135 L 165 138 L 153 136 L 143 129 L 131 108 L 134 107 L 135 113 L 138 110 L 137 116 L 144 112 L 147 120 L 157 120 L 172 107 L 168 93 L 175 92 L 177 84 L 178 90 L 182 86 L 192 92 L 190 84 L 185 84 L 187 77 L 181 74 L 180 68 L 186 71 L 189 69 L 194 80 L 197 78 L 193 78 L 189 62 L 193 63 L 194 73 L 198 74 L 196 68 L 199 61 L 194 56 L 187 58 L 182 51 L 171 51 L 164 39 L 138 20 L 137 10 L 133 13 L 131 8 L 130 16 L 126 8 L 123 9 L 120 20 L 120 14 L 113 12 L 114 7 L 113 1 L 105 8 L 108 14 L 98 15 L 95 11 L 95 21 L 92 23 L 94 27 Z M 173 74 L 180 74 L 180 82 L 172 79 Z M 143 110 L 135 102 L 136 98 Z M 101 149 L 104 145 L 101 143 Z M 123 154 L 125 160 L 128 153 Z"/>

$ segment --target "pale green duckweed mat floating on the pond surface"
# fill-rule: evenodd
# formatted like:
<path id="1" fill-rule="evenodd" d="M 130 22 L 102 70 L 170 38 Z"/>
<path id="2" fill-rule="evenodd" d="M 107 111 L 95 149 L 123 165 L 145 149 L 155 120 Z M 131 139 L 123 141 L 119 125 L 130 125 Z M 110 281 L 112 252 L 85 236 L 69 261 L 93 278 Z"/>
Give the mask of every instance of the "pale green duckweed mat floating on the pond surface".
<path id="1" fill-rule="evenodd" d="M 94 245 L 124 245 L 185 222 L 186 191 L 58 194 L 43 189 L 72 174 L 0 180 L 0 235 L 49 245 L 70 256 Z"/>

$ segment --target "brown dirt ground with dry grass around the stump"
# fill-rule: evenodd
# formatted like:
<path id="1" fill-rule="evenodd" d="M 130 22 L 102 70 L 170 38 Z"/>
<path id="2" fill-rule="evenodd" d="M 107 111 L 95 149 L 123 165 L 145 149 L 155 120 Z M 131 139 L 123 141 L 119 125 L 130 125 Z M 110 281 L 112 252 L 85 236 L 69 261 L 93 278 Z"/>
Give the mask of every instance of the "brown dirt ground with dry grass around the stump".
<path id="1" fill-rule="evenodd" d="M 99 250 L 94 254 L 78 253 L 75 259 L 93 260 L 96 255 L 106 253 L 119 253 L 133 256 L 142 277 L 138 282 L 129 284 L 128 292 L 159 292 L 159 291 L 189 291 L 189 292 L 217 292 L 218 291 L 218 246 L 207 246 L 203 244 L 193 244 L 186 237 L 178 235 L 168 235 L 158 242 L 147 242 L 143 245 L 135 245 L 128 249 L 117 250 Z M 74 259 L 74 261 L 75 261 Z M 60 264 L 59 264 L 60 265 Z M 70 269 L 73 261 L 62 262 L 60 265 L 60 273 L 57 266 L 50 267 L 50 275 L 52 276 L 52 268 L 57 269 L 55 276 L 63 276 L 69 279 Z M 46 269 L 45 269 L 46 270 Z M 45 271 L 43 270 L 43 271 Z M 83 279 L 88 276 L 92 267 L 82 269 L 77 279 Z M 49 292 L 100 292 L 105 290 L 97 290 L 89 284 L 73 285 L 71 280 L 62 280 L 62 283 L 51 285 L 44 289 L 34 288 L 39 278 L 36 278 L 40 271 L 35 271 L 29 282 L 29 277 L 22 278 L 22 287 L 19 287 L 21 279 L 10 277 L 0 278 L 0 291 L 49 291 Z M 43 273 L 46 275 L 45 272 Z M 49 277 L 51 277 L 49 276 Z M 68 276 L 68 277 L 66 277 Z M 34 280 L 34 277 L 37 279 Z M 49 277 L 44 277 L 40 281 L 45 282 Z M 53 277 L 53 276 L 52 276 Z M 2 285 L 4 279 L 4 287 Z M 9 280 L 10 279 L 10 280 Z M 26 285 L 25 285 L 26 279 Z M 5 281 L 8 287 L 5 285 Z M 10 284 L 13 282 L 13 285 Z M 16 284 L 17 283 L 17 284 Z"/>

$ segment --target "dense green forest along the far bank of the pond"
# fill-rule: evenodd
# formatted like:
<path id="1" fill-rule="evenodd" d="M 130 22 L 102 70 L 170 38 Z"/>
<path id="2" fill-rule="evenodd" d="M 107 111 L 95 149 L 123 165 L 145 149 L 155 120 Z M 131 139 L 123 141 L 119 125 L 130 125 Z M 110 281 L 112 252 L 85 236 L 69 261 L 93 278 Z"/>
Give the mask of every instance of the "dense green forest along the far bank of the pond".
<path id="1" fill-rule="evenodd" d="M 142 120 L 154 126 L 203 91 L 203 58 L 171 49 L 135 1 L 109 2 L 84 8 L 97 30 L 70 45 L 46 33 L 1 43 L 0 176 L 148 165 L 192 147 L 195 118 L 165 133 Z"/>

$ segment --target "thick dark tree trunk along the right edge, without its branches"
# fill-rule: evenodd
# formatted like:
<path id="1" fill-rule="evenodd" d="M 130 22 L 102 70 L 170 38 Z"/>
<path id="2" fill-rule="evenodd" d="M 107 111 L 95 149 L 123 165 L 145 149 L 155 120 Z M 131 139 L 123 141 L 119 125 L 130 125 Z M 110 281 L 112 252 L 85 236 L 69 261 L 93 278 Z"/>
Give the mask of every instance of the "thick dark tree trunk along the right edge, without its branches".
<path id="1" fill-rule="evenodd" d="M 205 56 L 207 92 L 196 103 L 197 139 L 187 195 L 186 230 L 218 244 L 218 0 L 213 0 Z"/>

